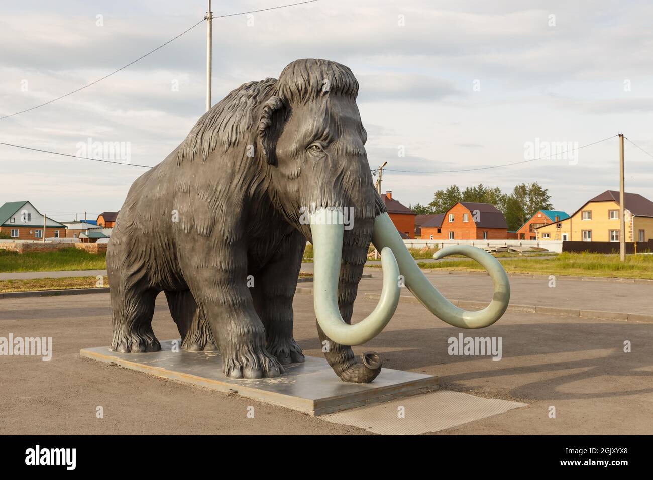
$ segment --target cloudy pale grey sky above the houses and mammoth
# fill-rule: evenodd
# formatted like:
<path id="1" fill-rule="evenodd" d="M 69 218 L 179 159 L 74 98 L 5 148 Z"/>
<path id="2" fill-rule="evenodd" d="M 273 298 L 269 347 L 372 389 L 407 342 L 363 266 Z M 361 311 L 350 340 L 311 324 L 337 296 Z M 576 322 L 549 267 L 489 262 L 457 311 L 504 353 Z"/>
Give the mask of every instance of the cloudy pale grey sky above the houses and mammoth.
<path id="1" fill-rule="evenodd" d="M 295 0 L 214 1 L 214 16 Z M 0 117 L 78 89 L 182 33 L 207 1 L 3 1 Z M 383 191 L 428 204 L 451 184 L 549 189 L 574 212 L 618 189 L 618 133 L 653 154 L 653 3 L 352 1 L 214 20 L 214 103 L 298 58 L 347 65 L 360 84 L 370 167 Z M 0 142 L 155 165 L 204 113 L 206 25 L 89 88 L 0 120 Z M 612 137 L 612 138 L 609 138 Z M 558 157 L 516 163 L 584 146 Z M 93 155 L 98 153 L 98 155 Z M 120 155 L 123 153 L 123 155 Z M 106 156 L 105 156 L 106 158 Z M 0 145 L 0 204 L 67 221 L 121 207 L 146 168 Z M 403 172 L 392 170 L 406 170 Z M 439 173 L 414 173 L 414 172 Z M 653 199 L 653 157 L 626 140 L 626 191 Z"/>

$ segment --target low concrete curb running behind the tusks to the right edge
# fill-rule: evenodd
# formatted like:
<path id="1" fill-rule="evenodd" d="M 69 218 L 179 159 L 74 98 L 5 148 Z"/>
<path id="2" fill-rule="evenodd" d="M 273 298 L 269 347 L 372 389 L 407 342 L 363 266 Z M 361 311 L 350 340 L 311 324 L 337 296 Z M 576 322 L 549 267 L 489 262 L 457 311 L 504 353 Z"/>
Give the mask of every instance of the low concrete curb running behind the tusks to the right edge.
<path id="1" fill-rule="evenodd" d="M 313 289 L 300 287 L 297 289 L 300 295 L 313 295 Z M 379 293 L 364 293 L 363 298 L 366 300 L 379 300 L 381 295 Z M 419 304 L 420 301 L 414 296 L 402 295 L 399 297 L 400 302 L 409 304 Z M 455 306 L 464 309 L 477 309 L 485 308 L 485 302 L 473 302 L 471 300 L 456 300 L 449 299 L 449 302 Z M 616 321 L 629 321 L 640 323 L 653 323 L 653 315 L 646 315 L 645 313 L 624 313 L 624 312 L 604 312 L 602 310 L 581 310 L 576 308 L 558 308 L 539 305 L 518 305 L 510 304 L 506 310 L 513 313 L 540 313 L 541 315 L 564 315 L 567 317 L 579 318 L 592 318 L 599 320 L 616 320 Z"/>

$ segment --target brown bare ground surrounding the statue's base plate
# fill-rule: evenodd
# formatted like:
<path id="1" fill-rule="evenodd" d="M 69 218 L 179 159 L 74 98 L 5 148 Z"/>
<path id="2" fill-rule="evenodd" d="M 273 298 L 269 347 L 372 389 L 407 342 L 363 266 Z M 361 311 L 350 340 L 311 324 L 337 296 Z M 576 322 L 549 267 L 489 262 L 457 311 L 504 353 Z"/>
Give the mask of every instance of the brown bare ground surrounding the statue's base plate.
<path id="1" fill-rule="evenodd" d="M 374 306 L 358 300 L 355 320 Z M 295 338 L 306 355 L 317 357 L 312 308 L 312 296 L 296 295 Z M 160 340 L 178 336 L 163 295 L 153 328 Z M 377 338 L 355 351 L 377 351 L 389 368 L 439 376 L 445 389 L 530 405 L 440 434 L 653 433 L 653 325 L 507 313 L 492 327 L 463 332 L 501 337 L 499 361 L 449 356 L 447 339 L 460 332 L 422 306 L 404 303 Z M 10 333 L 52 337 L 53 357 L 0 357 L 0 434 L 366 433 L 81 359 L 81 348 L 110 342 L 108 294 L 0 300 L 0 336 Z M 631 353 L 624 353 L 627 340 Z M 250 405 L 254 418 L 247 417 Z"/>

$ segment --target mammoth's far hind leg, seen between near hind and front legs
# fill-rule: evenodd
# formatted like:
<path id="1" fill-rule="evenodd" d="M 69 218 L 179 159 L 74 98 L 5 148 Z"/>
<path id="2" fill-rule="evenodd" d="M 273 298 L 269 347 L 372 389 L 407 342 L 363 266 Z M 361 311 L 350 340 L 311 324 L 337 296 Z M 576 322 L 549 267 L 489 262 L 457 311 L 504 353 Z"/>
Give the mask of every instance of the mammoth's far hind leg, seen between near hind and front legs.
<path id="1" fill-rule="evenodd" d="M 191 291 L 166 291 L 165 295 L 170 315 L 182 336 L 182 349 L 185 351 L 217 350 L 211 330 Z"/>

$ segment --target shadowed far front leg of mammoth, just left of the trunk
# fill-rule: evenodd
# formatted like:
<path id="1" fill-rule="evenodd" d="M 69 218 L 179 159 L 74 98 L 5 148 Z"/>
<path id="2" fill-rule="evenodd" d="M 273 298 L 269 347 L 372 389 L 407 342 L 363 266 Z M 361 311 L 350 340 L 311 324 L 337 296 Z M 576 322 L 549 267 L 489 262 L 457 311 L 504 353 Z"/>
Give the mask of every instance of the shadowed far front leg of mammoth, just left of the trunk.
<path id="1" fill-rule="evenodd" d="M 300 232 L 293 230 L 285 236 L 274 257 L 254 274 L 250 289 L 265 327 L 266 349 L 281 364 L 304 361 L 293 338 L 293 297 L 305 247 L 306 238 Z"/>

